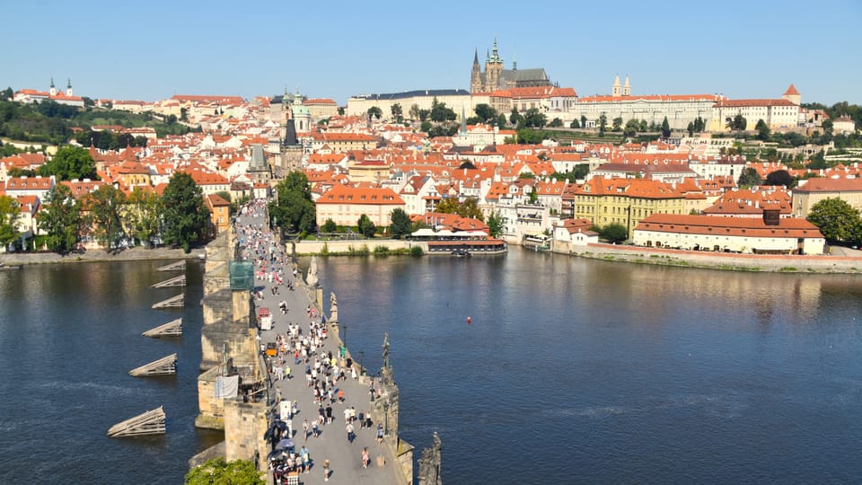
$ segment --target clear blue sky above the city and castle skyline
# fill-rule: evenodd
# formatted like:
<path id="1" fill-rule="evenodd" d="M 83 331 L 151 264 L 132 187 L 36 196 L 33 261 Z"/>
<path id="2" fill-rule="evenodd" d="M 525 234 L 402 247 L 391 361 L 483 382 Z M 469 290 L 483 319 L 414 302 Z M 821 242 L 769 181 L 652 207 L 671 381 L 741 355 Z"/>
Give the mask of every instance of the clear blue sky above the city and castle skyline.
<path id="1" fill-rule="evenodd" d="M 544 67 L 580 96 L 723 93 L 862 104 L 862 0 L 679 2 L 12 2 L 0 89 L 155 101 L 296 86 L 353 94 L 470 88 L 494 36 L 506 68 Z"/>

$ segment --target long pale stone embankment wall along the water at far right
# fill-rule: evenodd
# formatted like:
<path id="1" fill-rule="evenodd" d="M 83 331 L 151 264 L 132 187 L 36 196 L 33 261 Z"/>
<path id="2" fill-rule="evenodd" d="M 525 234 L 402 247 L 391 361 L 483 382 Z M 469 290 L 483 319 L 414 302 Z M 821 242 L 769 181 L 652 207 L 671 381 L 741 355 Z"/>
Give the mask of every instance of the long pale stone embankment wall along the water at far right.
<path id="1" fill-rule="evenodd" d="M 680 251 L 613 244 L 562 246 L 552 251 L 593 260 L 622 261 L 701 269 L 723 269 L 773 273 L 862 274 L 862 251 L 840 248 L 838 255 L 734 254 Z"/>

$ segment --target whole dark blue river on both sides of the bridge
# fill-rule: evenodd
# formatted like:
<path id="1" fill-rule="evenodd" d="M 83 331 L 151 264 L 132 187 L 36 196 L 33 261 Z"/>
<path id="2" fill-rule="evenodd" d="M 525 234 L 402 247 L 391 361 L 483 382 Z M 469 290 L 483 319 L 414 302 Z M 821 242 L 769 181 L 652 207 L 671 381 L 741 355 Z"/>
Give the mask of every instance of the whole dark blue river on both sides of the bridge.
<path id="1" fill-rule="evenodd" d="M 201 270 L 0 272 L 0 483 L 179 483 L 196 431 Z M 303 260 L 307 266 L 308 261 Z M 347 346 L 400 385 L 400 433 L 446 483 L 858 482 L 862 278 L 505 256 L 319 259 Z M 179 340 L 140 335 L 182 315 Z M 471 323 L 467 323 L 467 317 Z M 128 370 L 178 352 L 175 377 Z M 163 437 L 107 428 L 164 405 Z"/>

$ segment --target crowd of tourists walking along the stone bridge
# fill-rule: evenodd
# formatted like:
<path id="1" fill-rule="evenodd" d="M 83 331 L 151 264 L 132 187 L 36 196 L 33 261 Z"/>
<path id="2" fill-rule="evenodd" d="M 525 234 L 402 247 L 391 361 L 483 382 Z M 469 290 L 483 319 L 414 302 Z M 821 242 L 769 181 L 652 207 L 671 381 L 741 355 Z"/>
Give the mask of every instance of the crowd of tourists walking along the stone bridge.
<path id="1" fill-rule="evenodd" d="M 265 202 L 256 200 L 243 207 L 237 219 L 242 259 L 254 263 L 255 296 L 258 300 L 268 299 L 264 296 L 265 292 L 279 295 L 280 287 L 292 290 L 299 282 L 296 269 L 285 270 L 288 261 L 274 234 L 268 230 L 266 217 Z M 309 446 L 321 437 L 324 428 L 335 425 L 337 419 L 334 419 L 333 414 L 338 411 L 334 407 L 344 406 L 341 411 L 344 429 L 347 442 L 351 445 L 355 445 L 357 426 L 374 433 L 371 436 L 380 445 L 383 442 L 383 427 L 378 423 L 374 429 L 371 413 L 367 410 L 357 411 L 355 405 L 350 405 L 351 398 L 361 401 L 359 398 L 362 396 L 347 395 L 343 383 L 347 379 L 358 379 L 358 366 L 347 356 L 347 349 L 342 345 L 334 349 L 327 345 L 329 339 L 325 317 L 309 304 L 305 307 L 306 324 L 300 324 L 295 320 L 301 319 L 302 313 L 290 314 L 285 299 L 278 302 L 277 306 L 281 316 L 276 320 L 276 330 L 279 332 L 274 339 L 275 350 L 272 344 L 265 345 L 262 341 L 259 341 L 259 347 L 267 361 L 269 378 L 277 389 L 273 408 L 276 412 L 265 438 L 271 445 L 269 469 L 275 483 L 281 484 L 287 483 L 288 477 L 309 473 L 315 468 Z M 291 401 L 283 401 L 285 396 L 282 395 L 281 383 L 290 381 L 298 374 L 303 375 L 305 386 L 301 387 L 307 389 L 308 393 L 304 397 L 291 395 L 288 396 Z M 311 402 L 312 405 L 302 410 L 307 417 L 303 416 L 301 426 L 295 426 L 295 415 L 301 411 L 305 402 Z M 297 447 L 295 442 L 299 442 L 300 438 L 301 446 Z M 371 463 L 367 446 L 357 449 L 356 456 L 363 468 Z M 324 460 L 321 469 L 324 481 L 329 481 L 332 473 L 330 461 Z"/>

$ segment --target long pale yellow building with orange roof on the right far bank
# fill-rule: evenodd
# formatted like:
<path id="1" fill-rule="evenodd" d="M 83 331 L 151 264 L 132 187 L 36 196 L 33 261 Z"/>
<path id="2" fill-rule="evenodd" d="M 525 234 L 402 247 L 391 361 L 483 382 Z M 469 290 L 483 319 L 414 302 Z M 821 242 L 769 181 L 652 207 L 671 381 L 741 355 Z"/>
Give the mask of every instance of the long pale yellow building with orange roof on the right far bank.
<path id="1" fill-rule="evenodd" d="M 575 193 L 574 216 L 594 225 L 624 225 L 629 230 L 653 214 L 685 214 L 685 194 L 672 184 L 649 179 L 587 181 Z"/>

